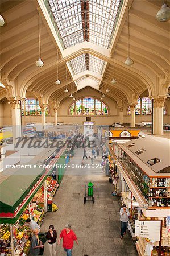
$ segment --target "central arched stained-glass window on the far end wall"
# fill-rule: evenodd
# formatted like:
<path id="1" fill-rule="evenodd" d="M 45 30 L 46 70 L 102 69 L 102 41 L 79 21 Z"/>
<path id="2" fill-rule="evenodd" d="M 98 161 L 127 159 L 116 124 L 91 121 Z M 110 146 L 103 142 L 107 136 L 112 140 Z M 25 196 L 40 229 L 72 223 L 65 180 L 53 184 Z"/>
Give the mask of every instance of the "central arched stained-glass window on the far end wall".
<path id="1" fill-rule="evenodd" d="M 108 115 L 106 104 L 97 98 L 84 97 L 73 102 L 69 115 Z"/>

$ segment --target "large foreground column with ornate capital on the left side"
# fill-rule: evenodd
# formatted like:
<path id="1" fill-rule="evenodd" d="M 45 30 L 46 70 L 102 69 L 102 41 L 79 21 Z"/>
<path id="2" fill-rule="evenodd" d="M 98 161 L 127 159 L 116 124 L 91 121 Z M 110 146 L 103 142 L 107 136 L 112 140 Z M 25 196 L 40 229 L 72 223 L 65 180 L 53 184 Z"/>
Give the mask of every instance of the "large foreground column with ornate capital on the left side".
<path id="1" fill-rule="evenodd" d="M 22 137 L 22 127 L 21 127 L 21 113 L 20 104 L 22 101 L 15 100 L 13 98 L 8 98 L 11 104 L 11 115 L 12 115 L 12 127 L 13 127 L 13 143 L 18 141 L 18 137 Z"/>

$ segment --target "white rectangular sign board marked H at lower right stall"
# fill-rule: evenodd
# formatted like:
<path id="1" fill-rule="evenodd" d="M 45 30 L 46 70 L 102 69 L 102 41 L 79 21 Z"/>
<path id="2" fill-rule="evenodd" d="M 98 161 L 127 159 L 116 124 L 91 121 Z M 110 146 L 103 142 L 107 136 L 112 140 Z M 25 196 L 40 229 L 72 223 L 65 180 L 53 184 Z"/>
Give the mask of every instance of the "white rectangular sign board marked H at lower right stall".
<path id="1" fill-rule="evenodd" d="M 135 236 L 160 241 L 161 221 L 135 221 Z"/>

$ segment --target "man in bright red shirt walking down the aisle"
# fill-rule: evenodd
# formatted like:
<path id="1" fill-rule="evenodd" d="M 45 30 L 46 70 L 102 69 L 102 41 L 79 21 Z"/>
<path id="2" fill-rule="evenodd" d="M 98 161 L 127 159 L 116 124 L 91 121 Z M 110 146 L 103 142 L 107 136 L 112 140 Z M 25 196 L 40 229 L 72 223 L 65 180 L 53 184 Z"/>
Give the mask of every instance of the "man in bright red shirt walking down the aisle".
<path id="1" fill-rule="evenodd" d="M 64 251 L 67 253 L 66 255 L 67 256 L 72 256 L 74 241 L 76 241 L 76 243 L 78 245 L 78 240 L 77 240 L 76 234 L 71 229 L 70 224 L 66 224 L 65 229 L 63 229 L 61 231 L 59 241 L 58 241 L 58 245 L 60 245 L 60 241 L 61 241 L 62 238 L 63 238 L 63 248 L 64 248 Z"/>

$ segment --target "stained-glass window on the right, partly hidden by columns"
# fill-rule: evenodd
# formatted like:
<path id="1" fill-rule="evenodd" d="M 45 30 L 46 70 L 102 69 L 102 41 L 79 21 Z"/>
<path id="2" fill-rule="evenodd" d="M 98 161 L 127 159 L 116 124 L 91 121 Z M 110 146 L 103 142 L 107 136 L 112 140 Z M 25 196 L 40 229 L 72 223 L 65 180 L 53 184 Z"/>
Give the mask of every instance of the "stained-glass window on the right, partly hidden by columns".
<path id="1" fill-rule="evenodd" d="M 128 107 L 127 114 L 130 115 L 130 106 Z M 151 115 L 152 114 L 152 100 L 149 97 L 138 98 L 138 104 L 135 106 L 136 115 Z M 167 111 L 164 107 L 164 115 Z"/>

